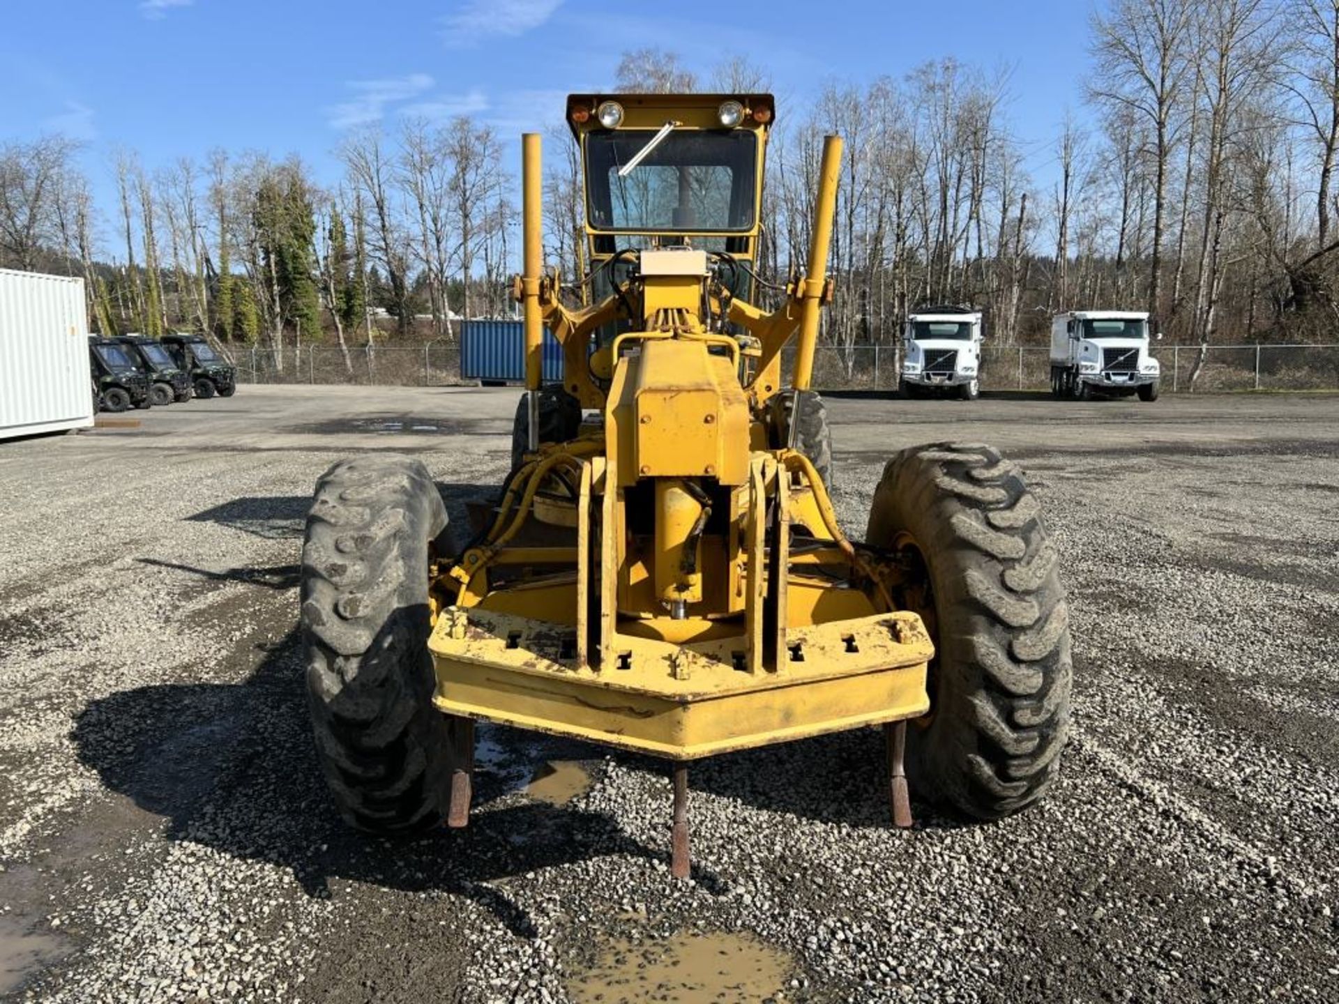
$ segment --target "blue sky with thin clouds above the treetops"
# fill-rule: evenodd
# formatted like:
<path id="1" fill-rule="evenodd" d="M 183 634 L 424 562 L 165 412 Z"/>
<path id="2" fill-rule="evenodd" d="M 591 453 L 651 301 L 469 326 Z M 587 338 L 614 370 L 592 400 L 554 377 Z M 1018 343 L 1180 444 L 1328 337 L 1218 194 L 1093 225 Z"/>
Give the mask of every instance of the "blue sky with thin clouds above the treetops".
<path id="1" fill-rule="evenodd" d="M 297 153 L 333 181 L 344 130 L 402 114 L 477 115 L 511 138 L 561 120 L 647 44 L 706 74 L 742 54 L 779 115 L 826 82 L 901 76 L 943 56 L 1011 68 L 1010 115 L 1046 178 L 1066 107 L 1082 116 L 1085 0 L 44 0 L 5 3 L 0 138 L 86 143 L 99 195 L 111 150 L 149 167 L 214 147 Z M 723 19 L 728 11 L 728 20 Z M 509 145 L 509 157 L 514 145 Z"/>

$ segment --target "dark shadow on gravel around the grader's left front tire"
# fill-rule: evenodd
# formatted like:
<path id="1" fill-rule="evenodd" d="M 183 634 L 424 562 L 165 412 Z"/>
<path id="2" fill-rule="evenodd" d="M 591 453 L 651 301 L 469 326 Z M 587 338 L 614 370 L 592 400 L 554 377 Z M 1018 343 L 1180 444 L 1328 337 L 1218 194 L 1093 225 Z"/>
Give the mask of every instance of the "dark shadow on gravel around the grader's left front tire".
<path id="1" fill-rule="evenodd" d="M 521 937 L 534 933 L 525 912 L 486 884 L 604 855 L 660 857 L 603 814 L 491 807 L 506 788 L 487 770 L 475 776 L 465 831 L 391 843 L 349 830 L 316 763 L 297 631 L 266 648 L 241 684 L 139 687 L 91 701 L 72 731 L 80 762 L 166 817 L 171 839 L 288 869 L 309 896 L 331 896 L 335 880 L 437 889 L 477 901 Z"/>

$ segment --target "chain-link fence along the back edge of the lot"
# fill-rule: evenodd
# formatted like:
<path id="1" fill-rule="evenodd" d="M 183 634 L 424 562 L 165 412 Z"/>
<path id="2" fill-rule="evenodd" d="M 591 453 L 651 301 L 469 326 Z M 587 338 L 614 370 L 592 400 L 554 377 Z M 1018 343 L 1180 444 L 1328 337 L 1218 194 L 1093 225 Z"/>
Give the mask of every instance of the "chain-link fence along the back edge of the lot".
<path id="1" fill-rule="evenodd" d="M 1162 391 L 1192 390 L 1198 345 L 1157 345 Z M 241 383 L 360 384 L 386 387 L 470 386 L 461 379 L 461 347 L 455 341 L 423 345 L 375 345 L 343 352 L 327 345 L 233 351 Z M 794 352 L 783 355 L 789 375 Z M 819 345 L 814 352 L 818 390 L 896 391 L 901 371 L 900 345 Z M 991 345 L 981 351 L 981 390 L 1047 391 L 1050 351 L 1044 345 Z M 1326 391 L 1339 390 L 1339 345 L 1210 345 L 1194 380 L 1194 391 Z"/>

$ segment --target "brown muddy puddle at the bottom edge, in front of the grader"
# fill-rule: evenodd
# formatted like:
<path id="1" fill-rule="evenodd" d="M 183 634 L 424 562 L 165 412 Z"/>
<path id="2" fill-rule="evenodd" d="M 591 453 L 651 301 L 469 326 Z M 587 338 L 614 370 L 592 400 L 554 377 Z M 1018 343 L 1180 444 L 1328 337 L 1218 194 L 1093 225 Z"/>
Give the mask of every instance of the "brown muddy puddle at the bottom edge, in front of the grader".
<path id="1" fill-rule="evenodd" d="M 766 1000 L 782 992 L 791 958 L 750 934 L 682 932 L 670 938 L 608 944 L 595 965 L 568 981 L 574 1004 Z"/>

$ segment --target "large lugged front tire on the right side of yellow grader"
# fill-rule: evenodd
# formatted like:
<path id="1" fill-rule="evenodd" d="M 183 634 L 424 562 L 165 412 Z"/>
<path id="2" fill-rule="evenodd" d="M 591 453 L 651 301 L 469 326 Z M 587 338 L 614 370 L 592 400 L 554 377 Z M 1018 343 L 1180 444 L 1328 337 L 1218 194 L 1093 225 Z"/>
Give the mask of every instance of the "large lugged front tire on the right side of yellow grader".
<path id="1" fill-rule="evenodd" d="M 1040 798 L 1069 735 L 1069 608 L 1039 510 L 996 450 L 935 443 L 893 456 L 869 514 L 869 542 L 911 570 L 894 600 L 935 640 L 908 775 L 979 819 Z"/>

